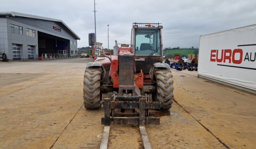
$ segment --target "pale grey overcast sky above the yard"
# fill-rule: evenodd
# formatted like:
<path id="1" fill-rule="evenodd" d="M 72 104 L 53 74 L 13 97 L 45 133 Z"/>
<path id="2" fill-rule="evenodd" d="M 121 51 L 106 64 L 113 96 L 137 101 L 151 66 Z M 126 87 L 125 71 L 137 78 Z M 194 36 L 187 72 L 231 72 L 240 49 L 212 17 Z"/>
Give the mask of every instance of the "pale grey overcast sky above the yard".
<path id="1" fill-rule="evenodd" d="M 163 47 L 199 47 L 200 35 L 256 24 L 255 0 L 96 0 L 97 42 L 130 44 L 133 22 L 162 23 Z M 94 33 L 93 0 L 1 0 L 0 11 L 63 20 L 88 45 Z"/>

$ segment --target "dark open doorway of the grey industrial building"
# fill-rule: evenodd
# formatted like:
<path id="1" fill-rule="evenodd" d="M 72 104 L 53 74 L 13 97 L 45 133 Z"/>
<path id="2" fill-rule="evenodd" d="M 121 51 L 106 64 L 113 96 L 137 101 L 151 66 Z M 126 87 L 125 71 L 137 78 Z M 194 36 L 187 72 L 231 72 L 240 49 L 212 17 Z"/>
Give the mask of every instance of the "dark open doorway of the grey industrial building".
<path id="1" fill-rule="evenodd" d="M 38 57 L 68 58 L 70 57 L 70 40 L 38 31 Z"/>

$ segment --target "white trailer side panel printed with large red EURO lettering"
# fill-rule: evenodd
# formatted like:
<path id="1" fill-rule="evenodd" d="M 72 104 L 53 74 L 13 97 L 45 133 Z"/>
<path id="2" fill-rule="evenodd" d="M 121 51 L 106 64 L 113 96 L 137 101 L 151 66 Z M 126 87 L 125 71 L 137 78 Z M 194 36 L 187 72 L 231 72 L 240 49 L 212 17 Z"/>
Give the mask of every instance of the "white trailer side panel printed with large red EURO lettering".
<path id="1" fill-rule="evenodd" d="M 256 90 L 256 24 L 200 36 L 198 74 Z"/>

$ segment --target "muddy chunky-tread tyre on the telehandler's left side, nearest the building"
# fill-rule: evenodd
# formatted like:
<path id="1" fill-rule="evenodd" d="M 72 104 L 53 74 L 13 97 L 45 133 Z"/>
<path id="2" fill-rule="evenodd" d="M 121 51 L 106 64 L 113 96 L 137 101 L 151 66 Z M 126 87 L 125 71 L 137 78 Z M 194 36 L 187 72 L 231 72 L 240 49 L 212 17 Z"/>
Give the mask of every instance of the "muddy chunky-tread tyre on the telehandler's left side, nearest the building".
<path id="1" fill-rule="evenodd" d="M 83 103 L 87 109 L 99 109 L 101 101 L 101 67 L 87 67 L 84 71 Z"/>

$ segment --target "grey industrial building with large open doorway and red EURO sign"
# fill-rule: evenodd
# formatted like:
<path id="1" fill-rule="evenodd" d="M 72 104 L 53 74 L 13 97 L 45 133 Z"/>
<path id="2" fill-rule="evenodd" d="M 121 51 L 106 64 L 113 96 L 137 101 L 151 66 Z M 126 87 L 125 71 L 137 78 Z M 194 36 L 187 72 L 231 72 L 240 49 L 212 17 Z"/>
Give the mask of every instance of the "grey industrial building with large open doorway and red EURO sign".
<path id="1" fill-rule="evenodd" d="M 40 59 L 42 54 L 77 54 L 76 35 L 62 20 L 0 12 L 0 53 L 7 61 Z"/>

